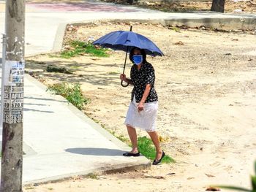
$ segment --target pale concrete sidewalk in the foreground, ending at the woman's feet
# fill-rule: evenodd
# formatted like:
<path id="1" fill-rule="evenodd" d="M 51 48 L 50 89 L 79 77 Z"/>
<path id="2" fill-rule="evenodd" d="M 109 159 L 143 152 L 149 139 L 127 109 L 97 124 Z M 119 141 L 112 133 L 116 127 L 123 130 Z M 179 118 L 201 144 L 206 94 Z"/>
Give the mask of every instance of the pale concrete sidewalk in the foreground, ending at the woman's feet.
<path id="1" fill-rule="evenodd" d="M 143 156 L 124 157 L 127 145 L 29 75 L 25 90 L 24 183 L 150 166 Z"/>

